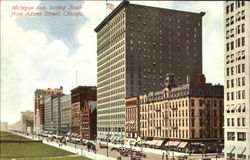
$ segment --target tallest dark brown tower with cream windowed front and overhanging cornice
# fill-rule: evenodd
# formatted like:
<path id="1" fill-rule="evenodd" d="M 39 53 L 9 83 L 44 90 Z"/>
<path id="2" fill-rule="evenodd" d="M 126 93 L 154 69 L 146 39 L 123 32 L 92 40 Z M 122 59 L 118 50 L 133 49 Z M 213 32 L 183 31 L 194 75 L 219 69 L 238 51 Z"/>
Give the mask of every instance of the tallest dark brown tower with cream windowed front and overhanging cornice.
<path id="1" fill-rule="evenodd" d="M 124 98 L 202 73 L 202 17 L 123 1 L 96 28 L 98 135 L 125 135 Z"/>

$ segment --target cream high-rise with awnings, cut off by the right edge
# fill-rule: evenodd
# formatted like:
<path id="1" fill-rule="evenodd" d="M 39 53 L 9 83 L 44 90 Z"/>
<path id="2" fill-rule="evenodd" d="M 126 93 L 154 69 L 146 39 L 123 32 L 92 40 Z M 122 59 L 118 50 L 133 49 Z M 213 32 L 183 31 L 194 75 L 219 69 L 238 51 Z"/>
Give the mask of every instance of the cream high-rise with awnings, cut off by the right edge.
<path id="1" fill-rule="evenodd" d="M 250 2 L 226 1 L 225 157 L 250 159 Z"/>

